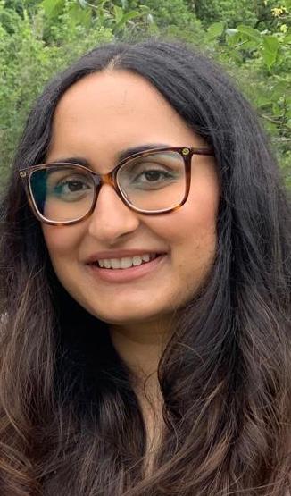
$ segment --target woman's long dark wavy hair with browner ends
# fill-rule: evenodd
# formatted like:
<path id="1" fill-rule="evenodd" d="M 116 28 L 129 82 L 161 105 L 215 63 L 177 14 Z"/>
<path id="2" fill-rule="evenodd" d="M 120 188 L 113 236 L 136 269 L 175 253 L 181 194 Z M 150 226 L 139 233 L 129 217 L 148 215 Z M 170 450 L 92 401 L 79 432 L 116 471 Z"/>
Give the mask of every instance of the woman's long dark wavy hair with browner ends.
<path id="1" fill-rule="evenodd" d="M 159 365 L 165 429 L 146 434 L 106 324 L 57 281 L 18 178 L 42 163 L 54 109 L 110 66 L 150 81 L 212 145 L 222 185 L 217 252 Z M 282 496 L 291 423 L 287 190 L 250 105 L 204 55 L 175 42 L 99 46 L 29 114 L 1 205 L 0 492 L 4 496 Z"/>

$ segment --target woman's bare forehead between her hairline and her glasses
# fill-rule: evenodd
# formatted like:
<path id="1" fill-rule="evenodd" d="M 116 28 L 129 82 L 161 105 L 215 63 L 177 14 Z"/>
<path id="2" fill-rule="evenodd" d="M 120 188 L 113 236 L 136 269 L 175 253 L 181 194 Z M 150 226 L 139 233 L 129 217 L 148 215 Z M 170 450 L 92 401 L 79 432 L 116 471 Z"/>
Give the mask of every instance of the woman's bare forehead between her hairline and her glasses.
<path id="1" fill-rule="evenodd" d="M 147 80 L 128 71 L 102 71 L 79 80 L 62 96 L 46 160 L 86 156 L 95 165 L 97 154 L 105 172 L 121 150 L 145 143 L 204 146 Z"/>

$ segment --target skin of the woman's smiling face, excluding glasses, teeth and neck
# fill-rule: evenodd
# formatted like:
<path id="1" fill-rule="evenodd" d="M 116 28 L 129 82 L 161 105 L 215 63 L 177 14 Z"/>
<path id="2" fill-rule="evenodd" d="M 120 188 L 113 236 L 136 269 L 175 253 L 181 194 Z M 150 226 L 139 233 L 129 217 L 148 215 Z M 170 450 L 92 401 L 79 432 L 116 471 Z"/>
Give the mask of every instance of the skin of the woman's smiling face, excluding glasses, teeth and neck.
<path id="1" fill-rule="evenodd" d="M 79 80 L 63 95 L 46 162 L 78 162 L 79 157 L 104 174 L 112 171 L 121 152 L 146 144 L 206 146 L 142 77 L 104 71 Z M 137 329 L 138 324 L 166 322 L 203 284 L 216 248 L 218 205 L 213 157 L 193 156 L 189 197 L 177 211 L 138 214 L 105 184 L 89 218 L 69 226 L 43 224 L 43 232 L 54 271 L 72 298 L 104 322 Z M 166 255 L 127 281 L 104 280 L 88 263 L 97 252 L 123 249 Z"/>

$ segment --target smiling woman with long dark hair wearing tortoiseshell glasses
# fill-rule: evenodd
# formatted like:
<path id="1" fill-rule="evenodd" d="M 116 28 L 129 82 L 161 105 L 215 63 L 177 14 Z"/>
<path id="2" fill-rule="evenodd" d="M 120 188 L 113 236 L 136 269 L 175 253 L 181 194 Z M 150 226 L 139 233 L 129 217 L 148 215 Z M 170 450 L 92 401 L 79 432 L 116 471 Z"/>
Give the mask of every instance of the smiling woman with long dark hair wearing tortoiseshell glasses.
<path id="1" fill-rule="evenodd" d="M 1 494 L 287 494 L 290 205 L 220 67 L 148 40 L 53 80 L 0 252 Z"/>

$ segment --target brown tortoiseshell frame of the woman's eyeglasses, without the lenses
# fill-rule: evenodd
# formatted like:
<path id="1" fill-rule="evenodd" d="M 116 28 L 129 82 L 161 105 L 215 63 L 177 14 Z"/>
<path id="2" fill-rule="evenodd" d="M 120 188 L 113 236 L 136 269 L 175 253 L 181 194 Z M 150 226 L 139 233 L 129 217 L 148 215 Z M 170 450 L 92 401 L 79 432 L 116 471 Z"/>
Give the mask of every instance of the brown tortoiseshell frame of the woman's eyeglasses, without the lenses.
<path id="1" fill-rule="evenodd" d="M 129 161 L 131 161 L 134 158 L 139 158 L 142 156 L 150 156 L 154 155 L 157 152 L 177 152 L 179 153 L 180 156 L 182 156 L 184 160 L 184 165 L 185 165 L 185 176 L 186 176 L 186 189 L 185 189 L 185 195 L 182 201 L 179 203 L 177 206 L 173 206 L 170 208 L 165 208 L 163 210 L 142 210 L 140 208 L 137 208 L 137 206 L 133 206 L 129 203 L 129 200 L 126 198 L 124 193 L 122 192 L 118 181 L 117 181 L 117 173 L 120 170 L 121 166 L 124 164 L 127 164 Z M 32 209 L 32 212 L 36 215 L 37 219 L 41 223 L 46 223 L 50 225 L 70 225 L 70 224 L 75 224 L 79 223 L 87 217 L 89 217 L 93 211 L 95 210 L 96 207 L 96 201 L 98 198 L 98 189 L 101 188 L 103 184 L 109 184 L 112 186 L 114 191 L 117 193 L 119 198 L 121 198 L 121 201 L 126 205 L 129 206 L 131 210 L 134 212 L 138 212 L 139 214 L 145 214 L 145 215 L 161 215 L 161 214 L 170 214 L 170 212 L 174 212 L 175 210 L 178 210 L 182 205 L 184 205 L 187 201 L 189 190 L 190 190 L 190 184 L 191 184 L 191 160 L 192 156 L 194 155 L 202 155 L 202 156 L 214 156 L 213 149 L 211 147 L 208 148 L 193 148 L 193 147 L 157 147 L 157 148 L 152 148 L 146 151 L 138 152 L 136 154 L 133 154 L 131 156 L 128 156 L 127 158 L 121 160 L 119 164 L 117 164 L 112 172 L 109 172 L 107 174 L 99 174 L 97 172 L 92 171 L 91 169 L 88 169 L 84 165 L 80 164 L 73 164 L 73 163 L 68 163 L 68 162 L 54 162 L 52 164 L 39 164 L 39 165 L 32 165 L 30 167 L 27 167 L 26 169 L 21 169 L 19 172 L 19 175 L 21 177 L 21 181 L 24 183 L 24 188 L 27 194 L 27 198 L 29 201 L 29 206 Z M 52 166 L 56 165 L 73 165 L 74 167 L 78 168 L 80 171 L 84 171 L 89 173 L 94 181 L 95 184 L 95 191 L 94 191 L 94 199 L 92 201 L 92 206 L 90 210 L 87 212 L 87 214 L 82 215 L 78 219 L 74 219 L 71 221 L 51 221 L 50 219 L 46 219 L 44 215 L 42 215 L 39 210 L 37 209 L 37 205 L 35 203 L 35 200 L 33 198 L 33 194 L 31 191 L 30 187 L 30 176 L 32 172 L 38 171 L 38 170 L 44 170 L 44 169 L 49 169 Z"/>

